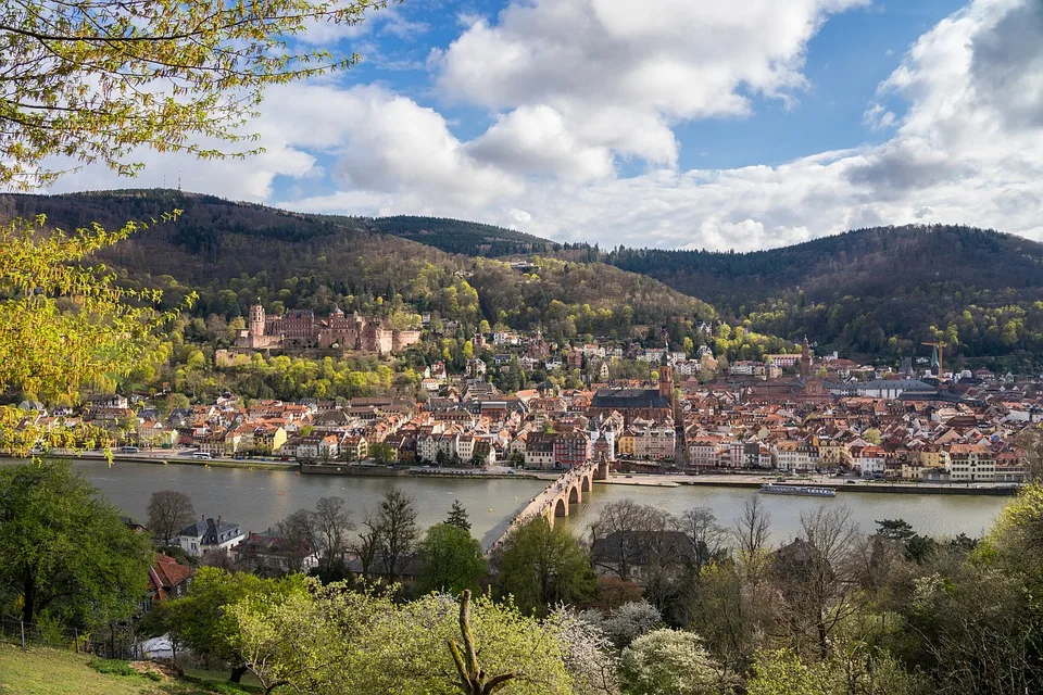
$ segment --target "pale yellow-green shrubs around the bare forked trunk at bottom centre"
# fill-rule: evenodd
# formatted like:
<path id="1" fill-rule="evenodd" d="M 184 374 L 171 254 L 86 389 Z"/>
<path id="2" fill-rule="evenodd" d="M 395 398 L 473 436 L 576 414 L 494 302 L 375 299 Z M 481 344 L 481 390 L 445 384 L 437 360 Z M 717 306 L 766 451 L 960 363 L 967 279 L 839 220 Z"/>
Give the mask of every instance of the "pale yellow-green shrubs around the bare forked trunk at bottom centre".
<path id="1" fill-rule="evenodd" d="M 237 647 L 268 686 L 282 682 L 315 695 L 460 692 L 445 648 L 460 639 L 460 606 L 445 595 L 395 604 L 343 585 L 312 584 L 279 604 L 247 596 L 229 612 Z M 469 623 L 485 671 L 518 674 L 498 692 L 571 692 L 553 623 L 483 597 L 474 599 Z"/>

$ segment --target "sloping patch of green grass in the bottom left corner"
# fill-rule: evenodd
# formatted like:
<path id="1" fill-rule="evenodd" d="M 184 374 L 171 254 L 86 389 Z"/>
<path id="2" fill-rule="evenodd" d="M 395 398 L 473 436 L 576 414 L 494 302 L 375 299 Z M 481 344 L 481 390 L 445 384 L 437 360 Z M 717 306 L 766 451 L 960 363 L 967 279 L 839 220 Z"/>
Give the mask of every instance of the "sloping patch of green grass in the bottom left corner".
<path id="1" fill-rule="evenodd" d="M 89 662 L 93 661 L 90 666 Z M 125 664 L 125 662 L 124 662 Z M 109 671 L 102 673 L 99 671 Z M 120 662 L 56 649 L 0 644 L 0 695 L 214 695 L 238 693 L 231 685 L 189 680 L 120 675 Z M 154 678 L 154 677 L 153 677 Z M 225 677 L 227 679 L 227 674 Z"/>

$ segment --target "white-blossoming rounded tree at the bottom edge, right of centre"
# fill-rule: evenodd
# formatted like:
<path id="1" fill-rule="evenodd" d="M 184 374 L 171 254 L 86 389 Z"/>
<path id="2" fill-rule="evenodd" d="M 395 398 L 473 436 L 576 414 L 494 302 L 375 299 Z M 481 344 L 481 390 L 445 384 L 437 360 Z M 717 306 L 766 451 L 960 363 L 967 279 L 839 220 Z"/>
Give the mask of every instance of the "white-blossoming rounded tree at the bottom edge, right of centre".
<path id="1" fill-rule="evenodd" d="M 632 695 L 724 694 L 733 681 L 698 634 L 669 629 L 642 635 L 624 649 L 619 675 Z"/>

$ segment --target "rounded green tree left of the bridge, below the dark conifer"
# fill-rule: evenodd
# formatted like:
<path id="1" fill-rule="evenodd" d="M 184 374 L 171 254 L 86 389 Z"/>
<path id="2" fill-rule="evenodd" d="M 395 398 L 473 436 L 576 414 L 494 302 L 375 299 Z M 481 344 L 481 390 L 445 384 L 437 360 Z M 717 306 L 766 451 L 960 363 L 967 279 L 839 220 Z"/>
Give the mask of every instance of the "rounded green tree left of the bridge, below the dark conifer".
<path id="1" fill-rule="evenodd" d="M 486 573 L 481 543 L 452 523 L 436 523 L 419 544 L 422 591 L 477 590 Z"/>

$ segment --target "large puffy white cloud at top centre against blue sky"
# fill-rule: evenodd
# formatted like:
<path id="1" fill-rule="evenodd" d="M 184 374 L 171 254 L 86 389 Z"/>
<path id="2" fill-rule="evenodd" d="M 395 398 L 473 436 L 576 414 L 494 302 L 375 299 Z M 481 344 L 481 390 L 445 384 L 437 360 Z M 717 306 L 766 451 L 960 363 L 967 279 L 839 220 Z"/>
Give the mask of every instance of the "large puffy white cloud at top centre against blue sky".
<path id="1" fill-rule="evenodd" d="M 569 141 L 674 166 L 674 124 L 749 115 L 751 94 L 792 100 L 806 86 L 807 41 L 828 14 L 867 2 L 515 1 L 494 23 L 470 18 L 430 63 L 450 99 L 507 118 L 550 110 Z M 564 170 L 586 168 L 548 153 Z"/>

